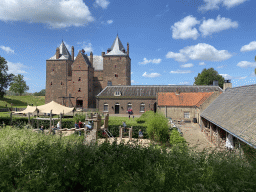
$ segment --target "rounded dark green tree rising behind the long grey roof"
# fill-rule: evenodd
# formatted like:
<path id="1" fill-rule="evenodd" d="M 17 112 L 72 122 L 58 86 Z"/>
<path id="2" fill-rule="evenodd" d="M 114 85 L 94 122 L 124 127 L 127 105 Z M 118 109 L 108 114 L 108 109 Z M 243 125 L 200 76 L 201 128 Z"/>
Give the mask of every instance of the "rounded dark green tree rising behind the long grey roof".
<path id="1" fill-rule="evenodd" d="M 212 85 L 213 81 L 216 80 L 219 83 L 219 86 L 223 88 L 224 77 L 219 75 L 217 71 L 213 68 L 203 69 L 201 73 L 198 73 L 195 77 L 195 85 Z"/>

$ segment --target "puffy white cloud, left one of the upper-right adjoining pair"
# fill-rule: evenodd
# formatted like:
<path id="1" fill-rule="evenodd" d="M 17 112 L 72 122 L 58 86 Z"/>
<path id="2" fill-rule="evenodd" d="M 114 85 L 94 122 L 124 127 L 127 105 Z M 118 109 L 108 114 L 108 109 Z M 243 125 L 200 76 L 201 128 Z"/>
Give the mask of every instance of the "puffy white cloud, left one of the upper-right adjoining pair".
<path id="1" fill-rule="evenodd" d="M 183 18 L 181 21 L 174 23 L 171 26 L 172 38 L 173 39 L 194 39 L 196 40 L 199 37 L 197 29 L 194 27 L 199 24 L 200 21 L 197 21 L 195 17 L 189 15 Z"/>

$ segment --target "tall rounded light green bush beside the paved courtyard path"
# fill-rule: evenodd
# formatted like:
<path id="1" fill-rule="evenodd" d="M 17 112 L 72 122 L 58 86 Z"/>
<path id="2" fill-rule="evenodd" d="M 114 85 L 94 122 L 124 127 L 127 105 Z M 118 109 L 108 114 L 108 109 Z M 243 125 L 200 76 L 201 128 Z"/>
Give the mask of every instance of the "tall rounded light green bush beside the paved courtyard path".
<path id="1" fill-rule="evenodd" d="M 147 134 L 149 138 L 161 143 L 169 140 L 168 120 L 161 113 L 154 113 L 147 123 Z"/>

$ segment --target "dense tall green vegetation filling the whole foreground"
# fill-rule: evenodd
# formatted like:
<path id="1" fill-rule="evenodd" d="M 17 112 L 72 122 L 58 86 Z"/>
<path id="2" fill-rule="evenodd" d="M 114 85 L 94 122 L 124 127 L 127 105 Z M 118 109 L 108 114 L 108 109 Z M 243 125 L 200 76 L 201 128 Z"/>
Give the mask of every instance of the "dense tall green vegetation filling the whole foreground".
<path id="1" fill-rule="evenodd" d="M 177 136 L 177 134 L 176 134 Z M 256 165 L 233 153 L 82 145 L 83 138 L 0 130 L 1 191 L 254 191 Z M 183 141 L 179 140 L 179 143 Z"/>

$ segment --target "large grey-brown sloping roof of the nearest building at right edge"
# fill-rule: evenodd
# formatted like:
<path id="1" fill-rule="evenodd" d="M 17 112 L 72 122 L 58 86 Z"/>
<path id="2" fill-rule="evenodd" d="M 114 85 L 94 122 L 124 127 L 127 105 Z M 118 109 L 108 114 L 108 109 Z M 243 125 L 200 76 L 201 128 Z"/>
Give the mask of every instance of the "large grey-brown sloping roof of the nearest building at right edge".
<path id="1" fill-rule="evenodd" d="M 256 85 L 226 89 L 201 116 L 256 148 Z"/>

